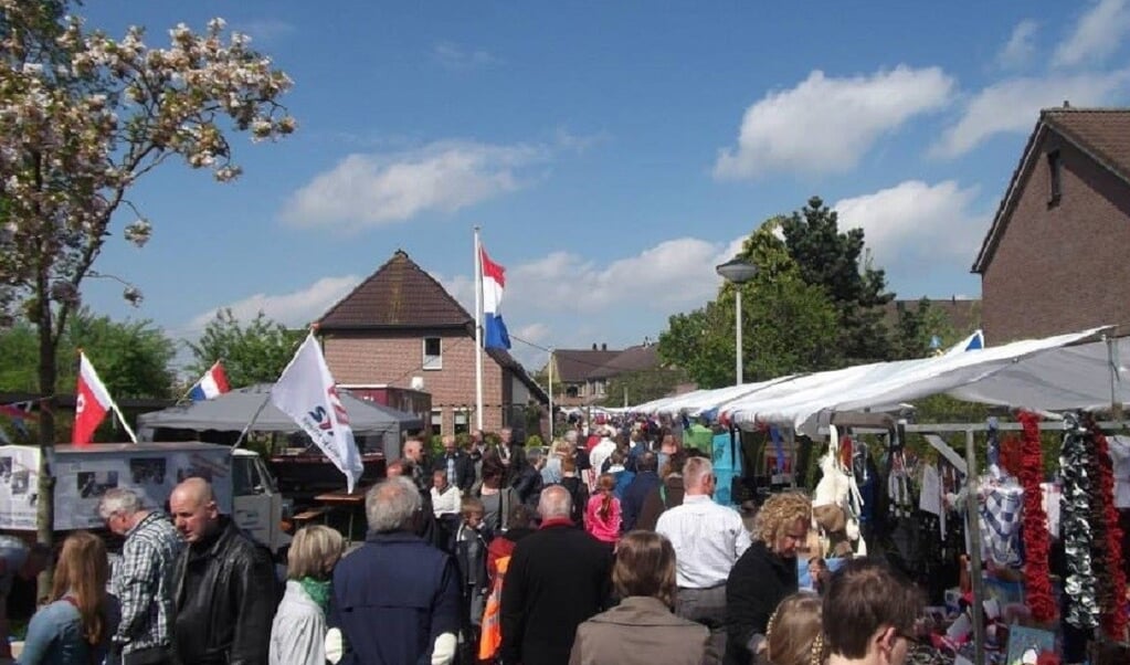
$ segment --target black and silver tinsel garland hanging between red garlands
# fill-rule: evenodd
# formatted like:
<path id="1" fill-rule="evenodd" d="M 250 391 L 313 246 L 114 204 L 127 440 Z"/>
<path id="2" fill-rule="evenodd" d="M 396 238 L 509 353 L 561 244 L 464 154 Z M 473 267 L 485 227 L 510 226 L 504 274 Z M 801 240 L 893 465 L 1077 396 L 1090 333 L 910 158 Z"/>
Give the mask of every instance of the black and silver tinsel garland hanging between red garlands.
<path id="1" fill-rule="evenodd" d="M 1060 499 L 1060 532 L 1067 559 L 1067 596 L 1064 621 L 1081 630 L 1098 627 L 1098 601 L 1095 597 L 1095 573 L 1090 562 L 1090 464 L 1086 430 L 1075 415 L 1063 418 L 1063 444 L 1060 469 L 1063 495 Z"/>

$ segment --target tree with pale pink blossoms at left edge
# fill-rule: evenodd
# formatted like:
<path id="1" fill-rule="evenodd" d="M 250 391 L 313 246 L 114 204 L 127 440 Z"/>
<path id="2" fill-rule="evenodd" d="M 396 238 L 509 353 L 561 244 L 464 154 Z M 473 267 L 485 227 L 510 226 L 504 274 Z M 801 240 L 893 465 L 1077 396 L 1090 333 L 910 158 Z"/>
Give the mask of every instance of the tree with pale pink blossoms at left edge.
<path id="1" fill-rule="evenodd" d="M 55 442 L 56 354 L 116 213 L 122 238 L 144 245 L 153 225 L 127 193 L 171 158 L 240 175 L 225 132 L 277 139 L 295 121 L 277 102 L 290 79 L 211 20 L 203 33 L 169 31 L 150 48 L 145 31 L 120 40 L 67 16 L 69 0 L 0 0 L 0 317 L 37 328 L 41 443 Z M 134 305 L 141 293 L 128 285 Z M 41 456 L 45 459 L 46 455 Z M 38 539 L 51 543 L 53 483 L 40 469 Z M 49 579 L 41 579 L 47 584 Z"/>

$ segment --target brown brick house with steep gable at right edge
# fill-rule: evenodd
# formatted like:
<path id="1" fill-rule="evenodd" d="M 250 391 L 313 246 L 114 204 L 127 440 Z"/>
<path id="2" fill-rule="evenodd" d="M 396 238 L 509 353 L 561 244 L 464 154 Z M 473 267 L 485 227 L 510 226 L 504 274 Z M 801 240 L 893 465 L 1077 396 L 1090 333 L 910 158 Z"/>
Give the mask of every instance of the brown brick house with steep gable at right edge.
<path id="1" fill-rule="evenodd" d="M 973 271 L 991 345 L 1130 322 L 1130 109 L 1048 109 Z"/>

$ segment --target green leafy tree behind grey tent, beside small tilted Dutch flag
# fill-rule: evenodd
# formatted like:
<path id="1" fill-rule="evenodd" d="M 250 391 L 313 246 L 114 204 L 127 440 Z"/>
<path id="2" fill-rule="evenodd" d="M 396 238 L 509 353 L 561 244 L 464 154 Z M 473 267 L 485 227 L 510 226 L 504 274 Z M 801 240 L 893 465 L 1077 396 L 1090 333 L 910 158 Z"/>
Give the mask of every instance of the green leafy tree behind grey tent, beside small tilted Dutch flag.
<path id="1" fill-rule="evenodd" d="M 218 360 L 232 387 L 270 383 L 279 378 L 294 356 L 295 346 L 306 336 L 305 330 L 289 330 L 259 312 L 246 326 L 232 310 L 216 312 L 197 343 L 188 343 L 195 363 L 189 365 L 192 375 L 203 374 Z"/>

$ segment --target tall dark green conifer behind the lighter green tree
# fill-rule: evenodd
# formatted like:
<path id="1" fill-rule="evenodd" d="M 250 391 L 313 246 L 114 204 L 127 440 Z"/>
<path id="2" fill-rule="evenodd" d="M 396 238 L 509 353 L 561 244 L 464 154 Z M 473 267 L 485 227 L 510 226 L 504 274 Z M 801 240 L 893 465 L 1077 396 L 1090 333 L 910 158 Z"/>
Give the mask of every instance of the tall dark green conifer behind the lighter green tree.
<path id="1" fill-rule="evenodd" d="M 801 278 L 822 286 L 836 306 L 841 364 L 888 360 L 892 355 L 884 306 L 894 299 L 886 275 L 864 253 L 863 230 L 841 232 L 835 210 L 812 197 L 781 224 L 789 254 Z"/>

